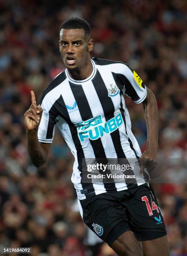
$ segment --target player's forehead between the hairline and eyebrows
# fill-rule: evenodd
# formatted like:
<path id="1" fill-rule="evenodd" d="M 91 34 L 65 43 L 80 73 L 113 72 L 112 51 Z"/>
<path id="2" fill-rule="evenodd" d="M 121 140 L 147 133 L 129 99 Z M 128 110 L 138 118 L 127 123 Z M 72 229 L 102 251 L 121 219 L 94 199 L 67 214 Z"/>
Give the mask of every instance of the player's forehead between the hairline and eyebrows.
<path id="1" fill-rule="evenodd" d="M 81 28 L 76 29 L 61 29 L 60 40 L 63 41 L 76 41 L 80 39 L 85 39 L 84 30 Z"/>

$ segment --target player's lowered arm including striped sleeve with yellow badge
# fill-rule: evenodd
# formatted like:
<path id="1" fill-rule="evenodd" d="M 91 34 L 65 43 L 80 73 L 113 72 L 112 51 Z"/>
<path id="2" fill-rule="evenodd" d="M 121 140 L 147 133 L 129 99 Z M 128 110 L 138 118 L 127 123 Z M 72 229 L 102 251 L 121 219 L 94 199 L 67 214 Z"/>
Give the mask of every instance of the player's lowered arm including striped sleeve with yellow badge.
<path id="1" fill-rule="evenodd" d="M 149 90 L 139 75 L 124 65 L 124 88 L 123 93 L 135 103 L 143 104 L 144 118 L 147 124 L 147 146 L 139 159 L 140 174 L 144 168 L 148 170 L 157 166 L 158 150 L 158 109 L 154 94 Z"/>

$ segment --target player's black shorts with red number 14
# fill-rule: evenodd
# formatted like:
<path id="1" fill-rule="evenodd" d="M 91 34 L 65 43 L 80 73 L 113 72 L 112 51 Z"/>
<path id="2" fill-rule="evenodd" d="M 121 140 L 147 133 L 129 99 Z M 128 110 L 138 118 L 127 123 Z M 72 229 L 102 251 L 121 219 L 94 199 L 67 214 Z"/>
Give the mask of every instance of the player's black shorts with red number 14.
<path id="1" fill-rule="evenodd" d="M 79 201 L 83 221 L 109 246 L 127 230 L 138 241 L 167 235 L 157 199 L 147 184 Z"/>

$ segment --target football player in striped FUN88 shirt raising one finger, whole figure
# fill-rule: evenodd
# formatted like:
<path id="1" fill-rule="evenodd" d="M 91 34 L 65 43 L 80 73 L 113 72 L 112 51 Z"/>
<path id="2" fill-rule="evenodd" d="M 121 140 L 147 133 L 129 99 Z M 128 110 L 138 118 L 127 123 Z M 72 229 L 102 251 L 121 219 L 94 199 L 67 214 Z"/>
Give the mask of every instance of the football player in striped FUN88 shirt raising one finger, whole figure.
<path id="1" fill-rule="evenodd" d="M 86 225 L 118 255 L 142 255 L 137 242 L 142 241 L 146 256 L 167 256 L 164 220 L 144 179 L 142 162 L 150 160 L 152 168 L 157 163 L 157 102 L 136 72 L 122 62 L 91 59 L 92 49 L 85 20 L 70 18 L 61 25 L 59 50 L 66 69 L 43 91 L 40 105 L 31 92 L 32 105 L 25 113 L 28 154 L 35 166 L 45 164 L 58 126 L 75 157 L 71 180 Z M 147 124 L 143 154 L 131 132 L 123 95 L 143 104 Z M 139 177 L 131 175 L 131 183 L 115 178 L 107 182 L 105 177 L 98 183 L 83 182 L 86 159 L 107 164 L 108 159 L 139 158 Z M 111 174 L 110 169 L 107 172 Z"/>

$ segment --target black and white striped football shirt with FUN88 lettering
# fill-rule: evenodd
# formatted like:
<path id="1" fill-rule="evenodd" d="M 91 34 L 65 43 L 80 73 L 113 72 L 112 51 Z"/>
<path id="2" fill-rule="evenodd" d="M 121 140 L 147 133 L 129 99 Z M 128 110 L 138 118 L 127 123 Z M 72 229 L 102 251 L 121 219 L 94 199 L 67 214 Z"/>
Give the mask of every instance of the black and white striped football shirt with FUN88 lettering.
<path id="1" fill-rule="evenodd" d="M 82 182 L 83 159 L 137 159 L 139 145 L 131 131 L 124 95 L 142 102 L 147 90 L 142 79 L 122 62 L 92 58 L 93 72 L 85 80 L 74 80 L 65 69 L 40 97 L 43 108 L 38 140 L 52 143 L 58 126 L 73 156 L 73 182 L 78 199 L 104 192 L 128 189 L 126 182 L 110 184 Z M 145 183 L 144 178 L 133 184 Z"/>

